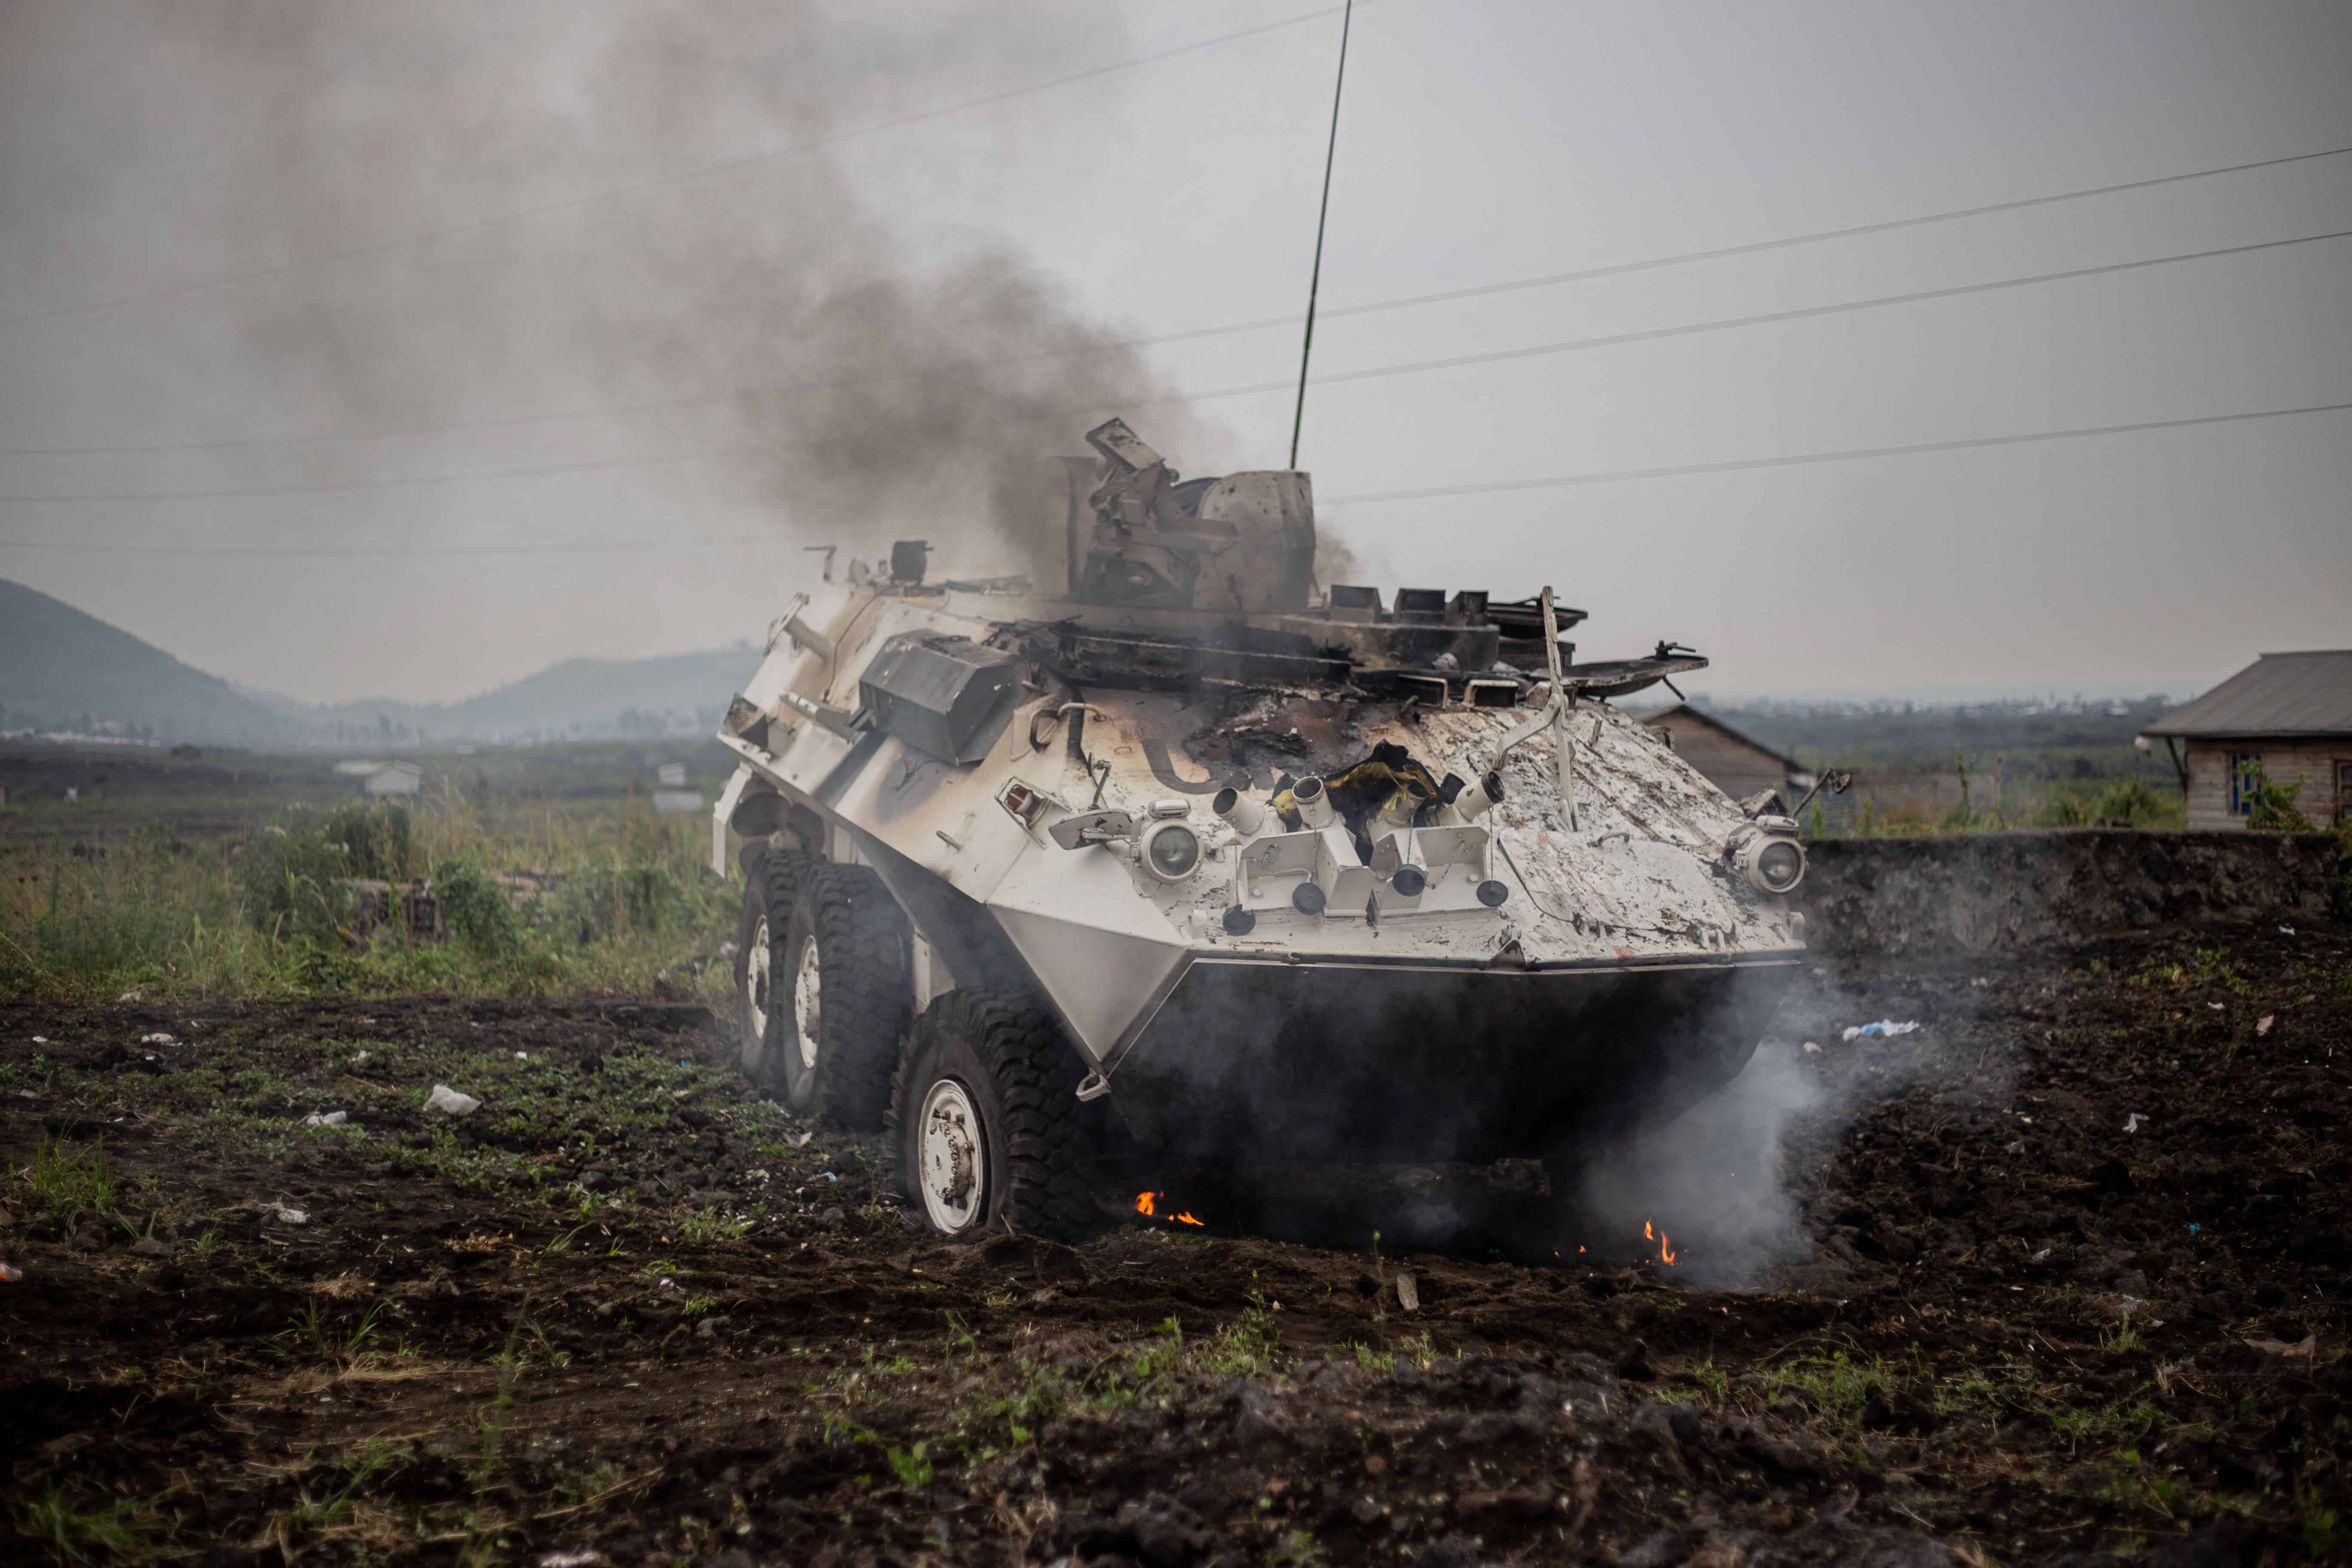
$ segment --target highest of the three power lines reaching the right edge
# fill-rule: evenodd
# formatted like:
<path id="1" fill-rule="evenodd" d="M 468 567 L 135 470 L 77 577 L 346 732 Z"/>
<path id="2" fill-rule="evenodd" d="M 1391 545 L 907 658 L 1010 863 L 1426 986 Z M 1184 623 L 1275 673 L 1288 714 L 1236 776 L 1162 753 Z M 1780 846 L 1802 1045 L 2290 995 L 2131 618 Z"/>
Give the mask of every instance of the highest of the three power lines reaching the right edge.
<path id="1" fill-rule="evenodd" d="M 1315 12 L 1315 16 L 1327 16 L 1327 14 L 1329 12 Z M 1294 19 L 1294 21 L 1303 21 L 1303 19 Z M 1289 26 L 1289 24 L 1277 24 L 1277 26 Z M 1204 45 L 1197 45 L 1197 47 L 1204 47 Z M 2124 183 L 2117 183 L 2117 186 L 2089 186 L 2089 188 L 2082 188 L 2082 190 L 2060 190 L 2060 193 L 2053 193 L 2053 195 L 2030 195 L 2030 197 L 2020 197 L 2020 200 L 2011 200 L 2011 202 L 1992 202 L 1992 205 L 1985 205 L 1985 207 L 1957 207 L 1952 212 L 1929 212 L 1929 214 L 1919 214 L 1919 216 L 1910 216 L 1910 219 L 1889 219 L 1889 221 L 1882 221 L 1882 223 L 1860 223 L 1860 226 L 1851 226 L 1851 228 L 1823 228 L 1823 230 L 1816 230 L 1816 233 L 1788 235 L 1788 237 L 1780 237 L 1780 240 L 1752 240 L 1748 244 L 1726 244 L 1726 247 L 1705 249 L 1705 252 L 1679 252 L 1679 254 L 1672 254 L 1672 256 L 1651 256 L 1646 261 L 1618 261 L 1618 263 L 1611 263 L 1611 266 L 1583 268 L 1583 270 L 1573 270 L 1573 273 L 1543 273 L 1541 277 L 1512 277 L 1512 280 L 1503 280 L 1503 282 L 1482 282 L 1482 284 L 1468 284 L 1468 287 L 1461 287 L 1461 289 L 1442 289 L 1437 294 L 1406 294 L 1406 296 L 1399 296 L 1399 299 L 1376 299 L 1376 301 L 1364 301 L 1364 303 L 1357 303 L 1357 306 L 1327 306 L 1322 310 L 1322 315 L 1327 315 L 1327 317 L 1329 315 L 1374 315 L 1374 313 L 1381 313 L 1381 310 L 1406 310 L 1406 308 L 1414 308 L 1414 306 L 1435 306 L 1435 303 L 1444 303 L 1444 301 L 1454 301 L 1454 299 L 1477 299 L 1477 296 L 1484 296 L 1484 294 L 1510 294 L 1510 292 L 1522 292 L 1522 289 L 1545 289 L 1545 287 L 1555 287 L 1555 284 L 1564 284 L 1564 282 L 1588 282 L 1588 280 L 1595 280 L 1595 277 L 1618 277 L 1618 275 L 1625 275 L 1625 273 L 1646 273 L 1646 270 L 1668 268 L 1668 266 L 1684 266 L 1684 263 L 1691 263 L 1691 261 L 1717 261 L 1717 259 L 1724 259 L 1724 256 L 1752 256 L 1752 254 L 1762 254 L 1762 252 L 1792 249 L 1792 247 L 1799 247 L 1799 244 L 1818 244 L 1818 242 L 1825 242 L 1825 240 L 1849 240 L 1849 237 L 1858 237 L 1858 235 L 1889 233 L 1889 230 L 1898 230 L 1898 228 L 1922 228 L 1922 226 L 1929 226 L 1929 223 L 1952 223 L 1952 221 L 1959 221 L 1959 219 L 1976 219 L 1976 216 L 1985 216 L 1985 214 L 1994 214 L 1994 212 L 2018 212 L 2018 209 L 2025 209 L 2025 207 L 2049 207 L 2049 205 L 2056 205 L 2056 202 L 2077 202 L 2077 200 L 2086 200 L 2086 197 L 2093 197 L 2093 195 L 2114 195 L 2119 190 L 2145 190 L 2145 188 L 2152 188 L 2152 186 L 2176 186 L 2176 183 L 2183 183 L 2183 181 L 2216 179 L 2216 176 L 2223 176 L 2223 174 L 2246 174 L 2246 172 L 2253 172 L 2253 169 L 2274 169 L 2274 167 L 2281 167 L 2281 165 L 2312 162 L 2312 160 L 2319 160 L 2319 158 L 2343 158 L 2347 153 L 2352 153 L 2352 146 L 2326 148 L 2321 153 L 2291 153 L 2286 158 L 2265 158 L 2265 160 L 2258 160 L 2258 162 L 2227 165 L 2227 167 L 2218 167 L 2218 169 L 2190 169 L 2185 174 L 2161 174 L 2161 176 L 2154 176 L 2154 179 L 2136 179 L 2136 181 L 2124 181 Z M 1117 350 L 1129 350 L 1129 348 L 1157 348 L 1162 343 L 1190 343 L 1190 341 L 1200 341 L 1200 339 L 1218 339 L 1218 336 L 1232 336 L 1232 334 L 1242 334 L 1242 331 L 1268 331 L 1268 329 L 1275 329 L 1275 327 L 1296 327 L 1298 322 L 1301 322 L 1298 315 L 1270 315 L 1270 317 L 1258 317 L 1258 320 L 1249 320 L 1249 322 L 1228 322 L 1223 327 L 1192 327 L 1192 329 L 1185 329 L 1185 331 L 1164 331 L 1164 334 L 1143 336 L 1143 339 L 1122 339 L 1122 341 L 1115 341 L 1115 343 L 1103 343 L 1098 348 L 1075 348 L 1075 350 L 1056 350 L 1056 353 L 1042 353 L 1042 355 L 1021 355 L 1021 360 L 1063 360 L 1063 357 L 1084 357 L 1084 355 L 1096 355 L 1096 353 L 1117 353 Z M 906 371 L 906 374 L 920 374 L 920 371 Z M 381 440 L 400 440 L 400 437 L 409 437 L 409 435 L 449 435 L 449 433 L 456 433 L 456 430 L 506 430 L 506 428 L 517 428 L 517 425 L 546 425 L 546 423 L 562 423 L 562 421 L 572 421 L 572 418 L 600 418 L 600 416 L 614 416 L 614 414 L 661 414 L 661 411 L 668 411 L 668 409 L 708 407 L 708 404 L 715 404 L 715 402 L 741 402 L 741 400 L 748 400 L 748 397 L 781 397 L 781 395 L 790 395 L 790 393 L 826 390 L 826 388 L 835 388 L 835 386 L 868 386 L 873 381 L 889 381 L 889 376 L 863 376 L 863 378 L 851 378 L 847 383 L 842 383 L 842 381 L 809 381 L 809 383 L 788 383 L 788 386 L 748 386 L 748 388 L 734 388 L 734 390 L 727 390 L 727 393 L 694 393 L 694 395 L 684 395 L 684 397 L 656 397 L 656 400 L 642 400 L 642 402 L 597 404 L 597 407 L 586 407 L 586 409 L 557 409 L 557 411 L 546 411 L 546 414 L 508 414 L 508 416 L 496 416 L 496 418 L 468 418 L 468 421 L 447 421 L 447 423 L 433 423 L 433 425 L 390 425 L 390 428 L 383 428 L 383 430 L 353 430 L 353 433 L 341 433 L 341 435 L 263 435 L 263 437 L 252 437 L 252 440 L 226 440 L 226 442 L 134 442 L 134 444 L 106 444 L 106 447 L 0 447 L 0 456 L 125 456 L 125 454 L 139 454 L 139 451 L 245 451 L 245 449 L 254 449 L 254 447 L 320 447 L 320 444 L 336 444 L 336 442 L 381 442 Z"/>

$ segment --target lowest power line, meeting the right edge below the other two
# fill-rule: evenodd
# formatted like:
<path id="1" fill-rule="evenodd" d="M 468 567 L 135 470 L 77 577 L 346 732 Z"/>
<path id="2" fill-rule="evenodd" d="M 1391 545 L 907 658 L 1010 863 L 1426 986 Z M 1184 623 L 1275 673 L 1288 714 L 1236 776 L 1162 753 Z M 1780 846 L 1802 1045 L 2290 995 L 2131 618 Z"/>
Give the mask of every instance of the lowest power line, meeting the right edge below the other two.
<path id="1" fill-rule="evenodd" d="M 1284 383 L 1287 386 L 1287 383 Z M 1851 463 L 1858 458 L 1896 458 L 1896 456 L 1922 456 L 1936 451 L 1971 451 L 1980 447 L 2023 447 L 2032 442 L 2070 442 L 2093 435 L 2138 435 L 2145 430 L 2185 430 L 2192 425 L 2232 425 L 2256 418 L 2291 418 L 2300 414 L 2345 414 L 2352 411 L 2352 402 L 2314 402 L 2293 409 L 2246 409 L 2239 414 L 2194 414 L 2190 418 L 2147 418 L 2124 425 L 2074 425 L 2072 430 L 2030 430 L 2020 435 L 1973 435 L 1950 442 L 1907 442 L 1898 447 L 1846 447 L 1839 451 L 1802 451 L 1795 456 L 1778 458 L 1733 458 L 1726 463 L 1682 463 L 1675 468 L 1618 468 L 1609 473 L 1581 473 L 1581 475 L 1557 475 L 1543 480 L 1491 480 L 1484 484 L 1439 484 L 1430 489 L 1385 489 L 1385 491 L 1362 491 L 1355 496 L 1327 496 L 1327 505 L 1378 505 L 1385 501 L 1432 501 L 1442 496 L 1486 496 L 1517 489 L 1562 489 L 1571 484 L 1628 484 L 1637 480 L 1675 480 L 1689 475 L 1712 475 L 1712 473 L 1743 473 L 1757 468 L 1802 468 L 1811 463 Z M 219 550 L 195 548 L 195 545 L 89 545 L 89 543 L 47 543 L 33 538 L 0 538 L 0 548 L 19 550 L 68 550 L 68 552 L 96 552 L 96 555 L 310 555 L 310 557 L 386 557 L 386 555 L 416 555 L 416 557 L 445 557 L 445 555 L 614 555 L 633 550 L 720 550 L 739 545 L 774 545 L 776 538 L 746 536 L 746 538 L 640 538 L 640 541 L 593 541 L 576 545 L 447 545 L 430 550 L 388 550 L 388 548 L 360 548 L 360 550 L 315 550 L 315 548 L 278 548 L 278 545 L 230 545 Z"/>

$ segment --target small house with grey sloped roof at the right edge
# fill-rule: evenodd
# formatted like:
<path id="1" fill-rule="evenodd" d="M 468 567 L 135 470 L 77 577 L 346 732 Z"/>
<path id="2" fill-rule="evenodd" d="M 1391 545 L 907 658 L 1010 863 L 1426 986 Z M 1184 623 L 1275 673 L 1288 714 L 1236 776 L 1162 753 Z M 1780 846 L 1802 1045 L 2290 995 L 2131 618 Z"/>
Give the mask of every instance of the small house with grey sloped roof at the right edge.
<path id="1" fill-rule="evenodd" d="M 2244 827 L 2249 764 L 2296 785 L 2314 827 L 2352 820 L 2352 649 L 2263 654 L 2249 668 L 2140 731 L 2164 741 L 2190 827 Z"/>

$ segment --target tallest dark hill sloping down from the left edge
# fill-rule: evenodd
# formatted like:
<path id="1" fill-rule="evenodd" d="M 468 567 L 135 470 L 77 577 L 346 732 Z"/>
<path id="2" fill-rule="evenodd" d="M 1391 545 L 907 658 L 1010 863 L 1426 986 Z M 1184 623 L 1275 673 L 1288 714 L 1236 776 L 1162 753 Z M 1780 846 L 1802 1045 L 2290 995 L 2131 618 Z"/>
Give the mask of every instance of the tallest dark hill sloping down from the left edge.
<path id="1" fill-rule="evenodd" d="M 64 599 L 0 581 L 0 729 L 285 745 L 301 724 Z"/>

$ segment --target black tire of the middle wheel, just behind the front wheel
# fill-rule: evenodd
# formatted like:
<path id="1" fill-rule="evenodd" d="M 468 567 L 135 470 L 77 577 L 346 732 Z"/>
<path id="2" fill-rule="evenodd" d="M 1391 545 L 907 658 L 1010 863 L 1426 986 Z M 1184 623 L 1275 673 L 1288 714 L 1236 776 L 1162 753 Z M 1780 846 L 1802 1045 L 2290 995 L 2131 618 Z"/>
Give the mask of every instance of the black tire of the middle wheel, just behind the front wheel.
<path id="1" fill-rule="evenodd" d="M 774 929 L 774 926 L 769 926 Z M 816 1065 L 800 1053 L 793 978 L 804 943 L 816 943 Z M 889 1079 L 913 1016 L 908 926 L 898 900 L 863 865 L 816 865 L 800 879 L 793 919 L 774 957 L 767 1013 L 769 1081 L 779 1100 L 851 1133 L 877 1133 L 889 1114 Z"/>

